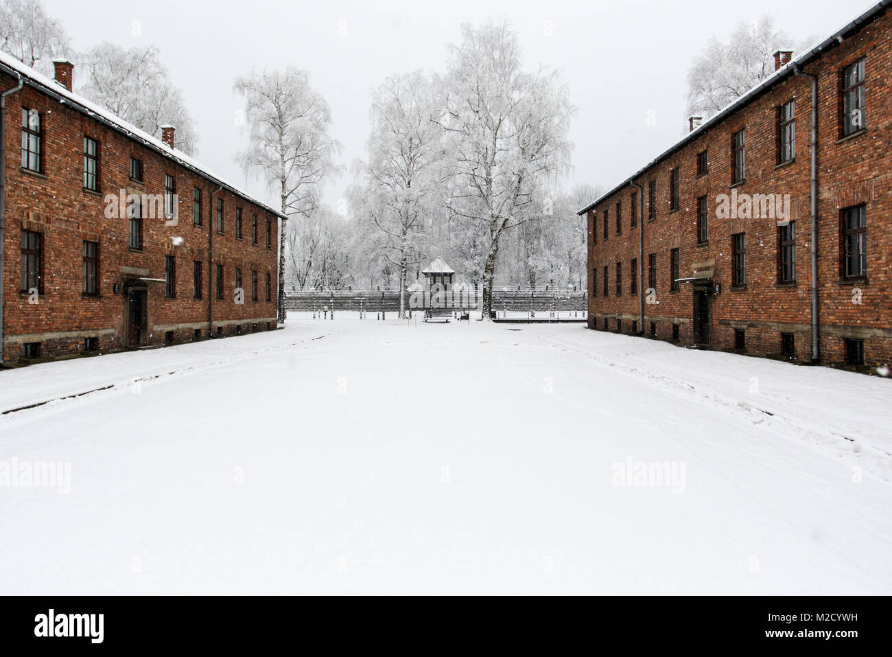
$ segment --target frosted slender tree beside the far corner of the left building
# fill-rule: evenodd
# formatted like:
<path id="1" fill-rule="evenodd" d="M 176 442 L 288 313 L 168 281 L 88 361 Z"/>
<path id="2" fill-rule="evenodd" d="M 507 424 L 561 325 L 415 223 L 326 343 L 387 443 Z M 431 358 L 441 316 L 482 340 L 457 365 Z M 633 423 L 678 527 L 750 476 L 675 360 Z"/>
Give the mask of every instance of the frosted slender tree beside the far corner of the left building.
<path id="1" fill-rule="evenodd" d="M 340 144 L 328 131 L 331 110 L 310 85 L 310 73 L 289 66 L 285 71 L 251 72 L 235 80 L 244 96 L 250 145 L 237 155 L 246 176 L 260 176 L 279 195 L 282 213 L 309 217 L 320 206 L 323 184 L 333 174 Z M 285 242 L 279 236 L 278 321 L 285 321 Z"/>

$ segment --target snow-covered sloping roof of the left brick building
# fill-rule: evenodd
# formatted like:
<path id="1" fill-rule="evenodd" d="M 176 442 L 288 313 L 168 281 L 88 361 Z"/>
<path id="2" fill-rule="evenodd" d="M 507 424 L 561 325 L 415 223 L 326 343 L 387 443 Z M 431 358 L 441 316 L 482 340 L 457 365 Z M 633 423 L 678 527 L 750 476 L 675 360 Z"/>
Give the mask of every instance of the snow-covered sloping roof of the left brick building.
<path id="1" fill-rule="evenodd" d="M 112 129 L 115 129 L 121 133 L 123 133 L 126 137 L 133 139 L 136 142 L 143 144 L 144 146 L 148 146 L 156 153 L 161 154 L 167 159 L 177 162 L 181 166 L 186 167 L 186 169 L 194 170 L 196 173 L 200 174 L 203 178 L 210 180 L 212 183 L 217 185 L 222 185 L 227 191 L 235 194 L 237 196 L 241 196 L 245 201 L 249 201 L 252 204 L 258 205 L 267 212 L 272 212 L 277 215 L 277 217 L 282 217 L 287 219 L 287 216 L 282 212 L 276 210 L 275 208 L 269 207 L 268 204 L 263 203 L 258 200 L 254 196 L 248 194 L 244 190 L 239 187 L 235 187 L 230 182 L 227 182 L 225 179 L 220 178 L 216 173 L 212 172 L 210 169 L 205 167 L 202 163 L 197 162 L 189 155 L 186 155 L 182 151 L 175 150 L 165 144 L 161 139 L 157 137 L 153 137 L 147 132 L 136 128 L 132 123 L 128 123 L 128 121 L 124 121 L 119 116 L 116 116 L 112 112 L 109 112 L 104 107 L 101 107 L 92 101 L 87 100 L 84 96 L 80 96 L 73 92 L 70 92 L 67 88 L 62 87 L 61 84 L 56 82 L 54 79 L 47 78 L 43 73 L 35 71 L 30 66 L 20 62 L 11 54 L 0 52 L 0 70 L 7 69 L 9 71 L 4 71 L 10 73 L 13 77 L 16 73 L 21 75 L 24 83 L 29 87 L 36 89 L 39 92 L 42 92 L 48 96 L 54 96 L 60 103 L 67 105 L 71 109 L 82 112 L 87 116 L 95 119 L 96 121 L 100 121 L 108 124 Z"/>

